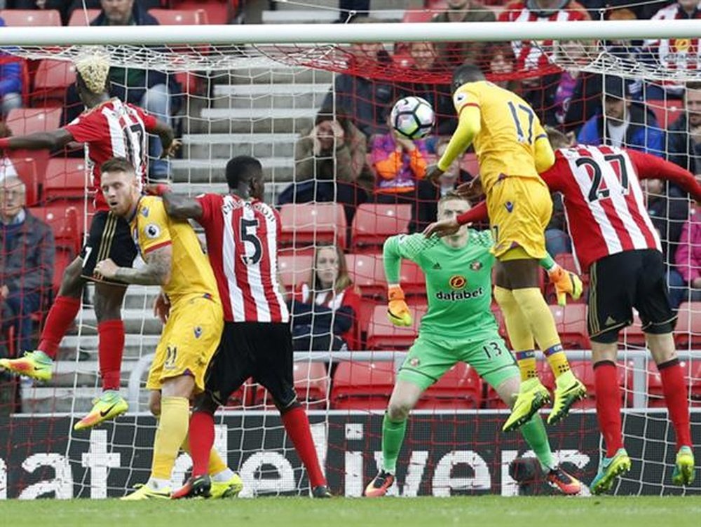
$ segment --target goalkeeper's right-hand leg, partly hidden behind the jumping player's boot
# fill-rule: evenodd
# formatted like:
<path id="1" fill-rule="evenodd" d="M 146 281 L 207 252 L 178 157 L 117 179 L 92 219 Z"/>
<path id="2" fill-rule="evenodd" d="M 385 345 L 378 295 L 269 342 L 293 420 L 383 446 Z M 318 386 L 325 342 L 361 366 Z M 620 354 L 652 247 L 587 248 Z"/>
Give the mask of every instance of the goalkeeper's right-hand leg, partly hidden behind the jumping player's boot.
<path id="1" fill-rule="evenodd" d="M 498 380 L 496 375 L 494 377 L 495 381 Z M 492 381 L 490 375 L 486 375 L 484 378 L 488 383 Z M 515 395 L 519 392 L 519 378 L 517 375 L 512 375 L 504 381 L 501 381 L 501 383 L 498 383 L 497 386 L 493 386 L 493 388 L 505 404 L 512 405 Z M 543 425 L 543 419 L 540 418 L 538 413 L 533 415 L 522 425 L 521 433 L 524 439 L 526 439 L 526 443 L 528 443 L 533 452 L 536 453 L 536 457 L 540 463 L 540 469 L 543 470 L 548 484 L 557 488 L 563 494 L 579 494 L 582 490 L 580 481 L 571 476 L 571 474 L 565 472 L 562 467 L 555 463 L 552 457 L 552 451 L 550 450 L 550 442 L 547 439 L 547 432 L 545 432 L 545 425 Z"/>

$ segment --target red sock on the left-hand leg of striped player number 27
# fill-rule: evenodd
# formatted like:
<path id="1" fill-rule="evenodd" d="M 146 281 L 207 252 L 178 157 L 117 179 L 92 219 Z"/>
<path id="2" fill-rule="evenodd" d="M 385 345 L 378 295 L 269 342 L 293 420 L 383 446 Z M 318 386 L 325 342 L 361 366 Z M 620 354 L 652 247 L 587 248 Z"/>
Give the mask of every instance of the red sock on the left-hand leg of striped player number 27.
<path id="1" fill-rule="evenodd" d="M 606 457 L 623 448 L 620 431 L 620 387 L 615 362 L 602 360 L 594 364 L 594 393 L 597 397 L 599 430 L 604 435 Z"/>

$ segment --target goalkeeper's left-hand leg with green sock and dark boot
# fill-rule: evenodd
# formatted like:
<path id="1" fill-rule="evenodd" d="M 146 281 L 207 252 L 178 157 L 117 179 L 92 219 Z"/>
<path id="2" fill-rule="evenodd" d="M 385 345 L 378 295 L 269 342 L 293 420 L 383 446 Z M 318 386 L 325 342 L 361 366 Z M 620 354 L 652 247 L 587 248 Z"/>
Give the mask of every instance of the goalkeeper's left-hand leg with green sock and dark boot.
<path id="1" fill-rule="evenodd" d="M 407 431 L 407 418 L 423 390 L 423 386 L 416 382 L 397 380 L 382 420 L 382 465 L 376 477 L 365 487 L 365 495 L 368 498 L 385 495 L 394 484 L 397 458 Z"/>

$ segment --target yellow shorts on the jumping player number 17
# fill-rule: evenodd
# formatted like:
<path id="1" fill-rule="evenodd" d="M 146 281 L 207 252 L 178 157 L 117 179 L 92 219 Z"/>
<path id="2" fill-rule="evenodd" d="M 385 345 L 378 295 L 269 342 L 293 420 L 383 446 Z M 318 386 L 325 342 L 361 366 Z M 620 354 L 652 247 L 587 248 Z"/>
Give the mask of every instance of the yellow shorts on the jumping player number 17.
<path id="1" fill-rule="evenodd" d="M 509 176 L 496 182 L 486 196 L 494 236 L 494 256 L 500 260 L 541 259 L 552 199 L 544 182 Z"/>

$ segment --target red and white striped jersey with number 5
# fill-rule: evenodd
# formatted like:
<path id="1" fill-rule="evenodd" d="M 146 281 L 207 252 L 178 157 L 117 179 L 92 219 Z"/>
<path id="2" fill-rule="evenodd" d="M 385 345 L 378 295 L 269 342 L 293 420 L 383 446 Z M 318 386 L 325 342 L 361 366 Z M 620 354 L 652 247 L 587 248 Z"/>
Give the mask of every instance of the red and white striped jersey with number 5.
<path id="1" fill-rule="evenodd" d="M 203 194 L 199 223 L 227 322 L 288 322 L 278 282 L 280 216 L 259 200 Z"/>

